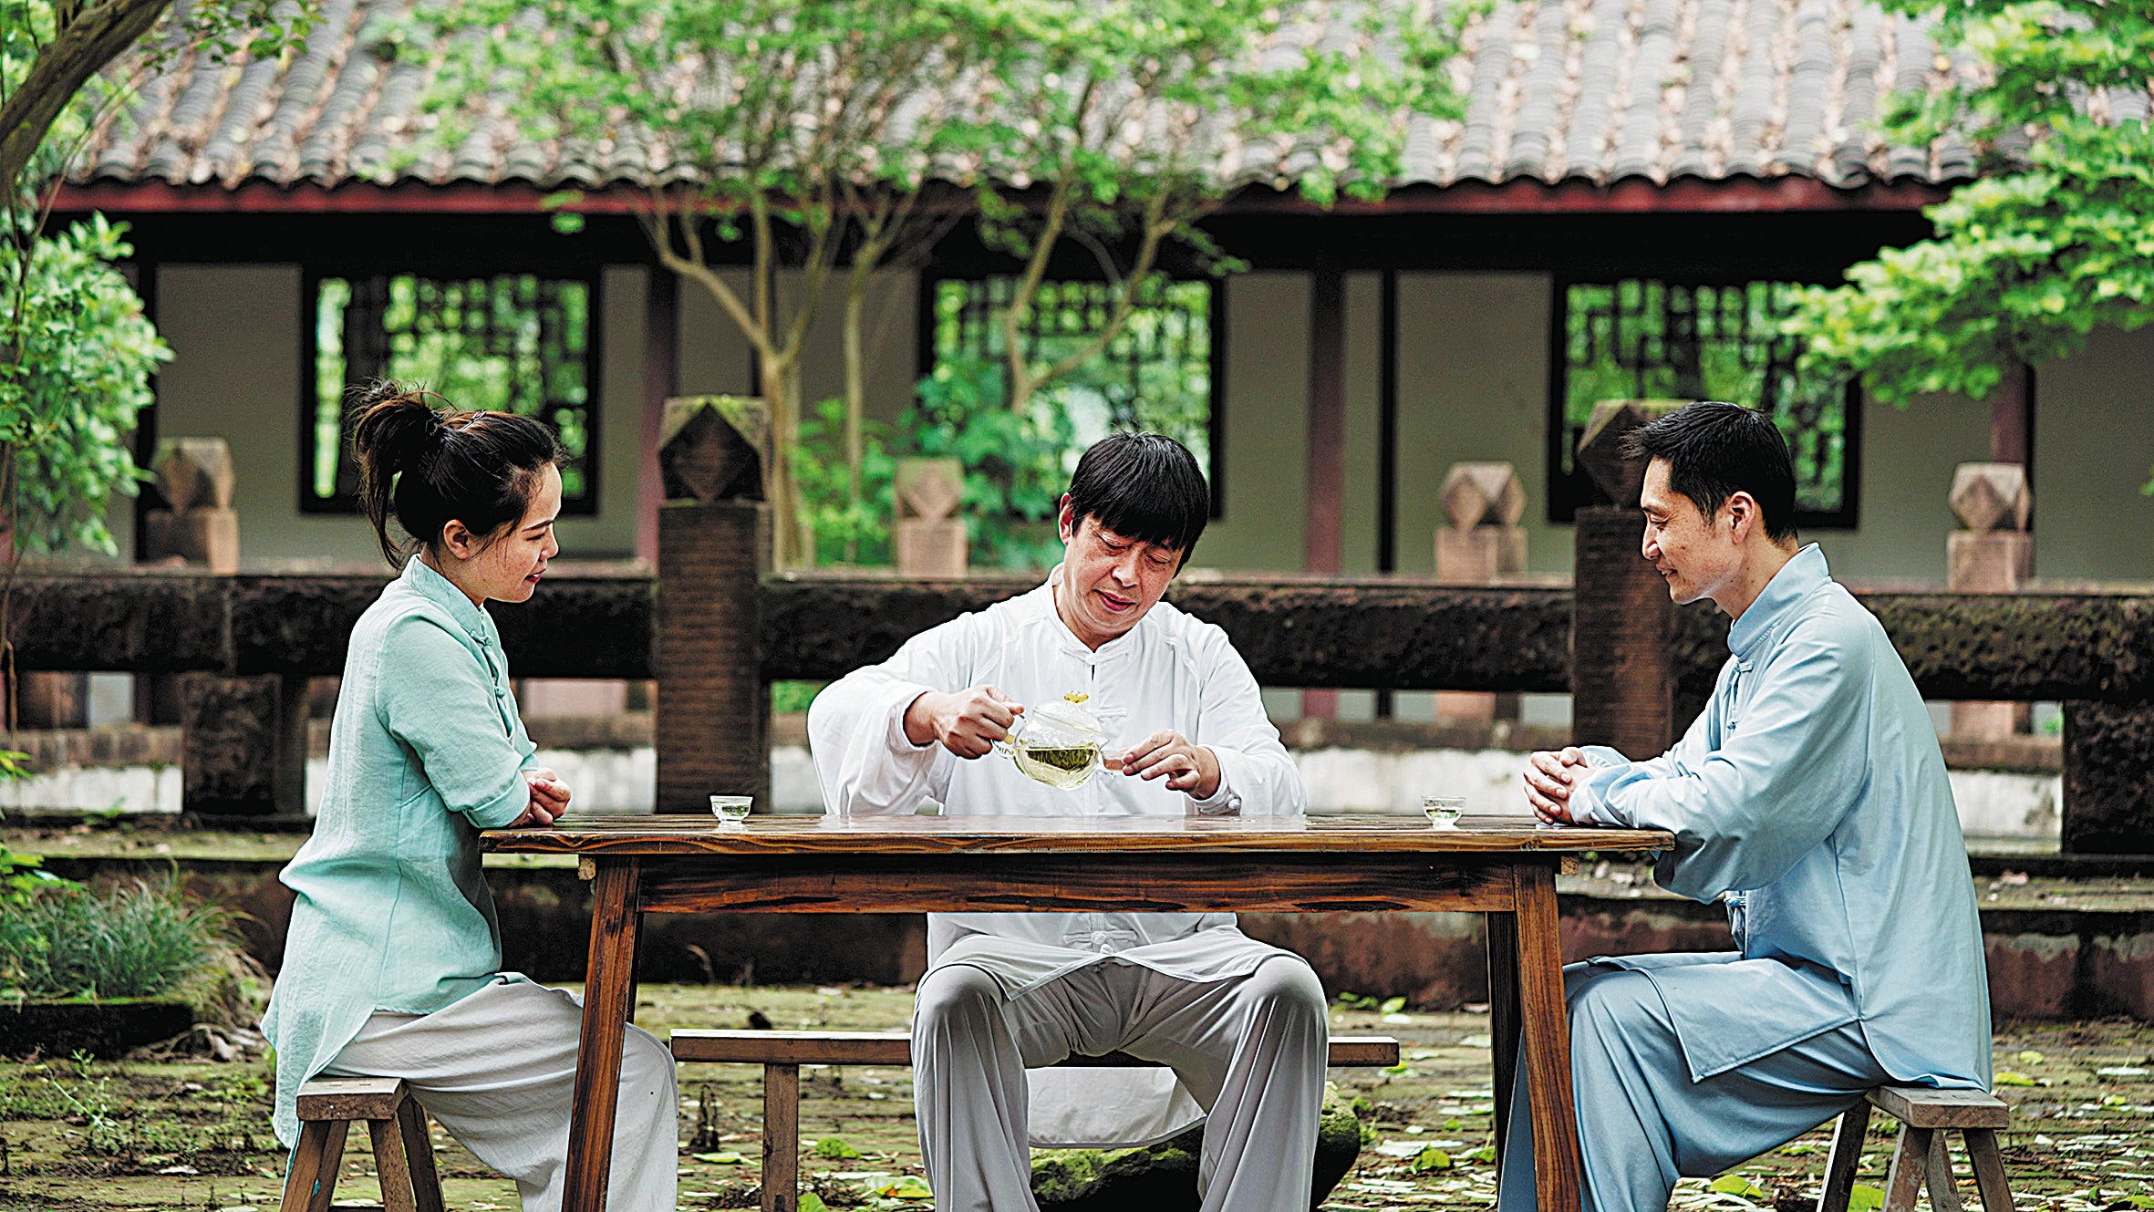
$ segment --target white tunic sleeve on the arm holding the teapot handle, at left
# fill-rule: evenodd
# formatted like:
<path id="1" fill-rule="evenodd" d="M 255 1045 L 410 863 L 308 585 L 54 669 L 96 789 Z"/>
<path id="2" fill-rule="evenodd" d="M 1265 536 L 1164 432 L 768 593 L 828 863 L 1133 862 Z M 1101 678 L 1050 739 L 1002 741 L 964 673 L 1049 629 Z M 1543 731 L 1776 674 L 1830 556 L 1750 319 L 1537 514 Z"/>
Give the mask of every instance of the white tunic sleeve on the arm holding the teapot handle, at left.
<path id="1" fill-rule="evenodd" d="M 808 753 L 831 816 L 909 814 L 950 794 L 956 753 L 905 736 L 905 710 L 928 691 L 971 685 L 978 616 L 922 631 L 883 661 L 853 670 L 808 704 Z"/>

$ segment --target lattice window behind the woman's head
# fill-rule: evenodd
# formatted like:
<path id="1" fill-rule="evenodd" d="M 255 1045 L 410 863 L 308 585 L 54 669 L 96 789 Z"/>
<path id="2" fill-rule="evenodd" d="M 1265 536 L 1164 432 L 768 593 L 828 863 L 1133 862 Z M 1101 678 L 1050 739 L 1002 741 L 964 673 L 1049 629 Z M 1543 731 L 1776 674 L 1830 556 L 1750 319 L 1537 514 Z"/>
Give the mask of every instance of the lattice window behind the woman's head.
<path id="1" fill-rule="evenodd" d="M 314 379 L 308 392 L 299 506 L 355 508 L 347 387 L 370 379 L 422 383 L 459 409 L 498 409 L 545 420 L 569 459 L 562 512 L 595 512 L 597 349 L 590 280 L 498 273 L 416 273 L 314 280 Z"/>

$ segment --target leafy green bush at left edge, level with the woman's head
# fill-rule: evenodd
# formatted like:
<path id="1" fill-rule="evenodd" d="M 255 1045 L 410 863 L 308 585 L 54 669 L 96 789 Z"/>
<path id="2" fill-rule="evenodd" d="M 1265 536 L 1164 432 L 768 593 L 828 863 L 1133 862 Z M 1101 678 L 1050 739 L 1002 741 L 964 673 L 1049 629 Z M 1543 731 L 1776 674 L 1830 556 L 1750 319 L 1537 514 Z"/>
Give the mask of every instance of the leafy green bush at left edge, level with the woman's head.
<path id="1" fill-rule="evenodd" d="M 0 448 L 13 454 L 15 534 L 34 551 L 114 553 L 106 502 L 146 474 L 125 437 L 172 357 L 121 276 L 123 226 L 93 215 L 60 235 L 0 241 Z"/>

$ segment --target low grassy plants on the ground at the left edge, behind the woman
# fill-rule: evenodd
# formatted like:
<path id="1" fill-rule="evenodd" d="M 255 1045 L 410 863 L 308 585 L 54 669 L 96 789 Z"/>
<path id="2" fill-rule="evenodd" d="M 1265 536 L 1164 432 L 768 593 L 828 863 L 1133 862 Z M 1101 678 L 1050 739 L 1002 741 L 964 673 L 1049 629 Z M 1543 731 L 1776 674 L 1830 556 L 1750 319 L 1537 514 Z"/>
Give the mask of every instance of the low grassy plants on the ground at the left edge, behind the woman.
<path id="1" fill-rule="evenodd" d="M 215 975 L 228 924 L 170 883 L 43 891 L 0 915 L 0 995 L 157 997 Z"/>

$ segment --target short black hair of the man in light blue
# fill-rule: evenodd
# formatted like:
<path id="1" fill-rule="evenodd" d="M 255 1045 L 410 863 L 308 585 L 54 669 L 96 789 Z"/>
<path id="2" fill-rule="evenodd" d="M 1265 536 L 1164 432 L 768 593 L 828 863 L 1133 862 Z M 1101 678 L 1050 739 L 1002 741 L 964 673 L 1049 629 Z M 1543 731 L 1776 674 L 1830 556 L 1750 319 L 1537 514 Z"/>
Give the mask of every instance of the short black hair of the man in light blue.
<path id="1" fill-rule="evenodd" d="M 1712 521 L 1749 493 L 1773 542 L 1794 538 L 1794 459 L 1773 418 L 1719 400 L 1680 407 L 1624 435 L 1631 459 L 1667 459 L 1667 487 Z"/>

